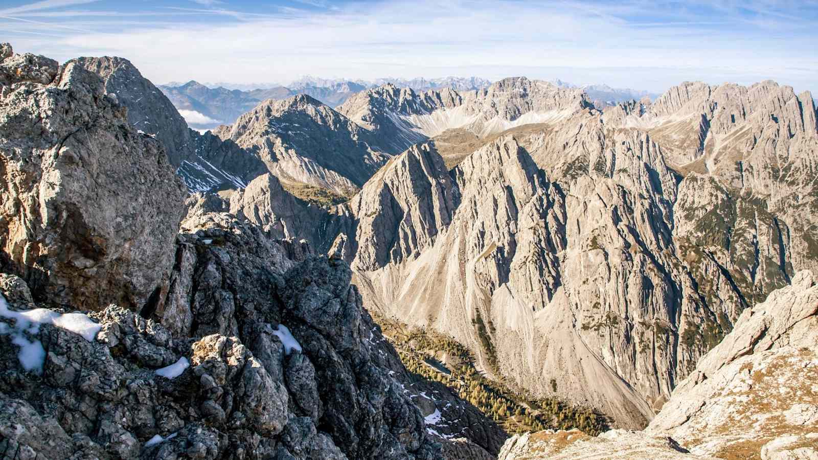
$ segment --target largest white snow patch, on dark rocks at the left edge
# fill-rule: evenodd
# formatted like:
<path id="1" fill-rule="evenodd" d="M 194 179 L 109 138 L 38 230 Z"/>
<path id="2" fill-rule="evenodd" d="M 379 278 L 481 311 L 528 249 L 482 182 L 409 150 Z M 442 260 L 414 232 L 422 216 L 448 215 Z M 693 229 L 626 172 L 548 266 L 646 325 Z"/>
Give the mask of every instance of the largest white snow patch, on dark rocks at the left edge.
<path id="1" fill-rule="evenodd" d="M 0 322 L 0 334 L 11 335 L 11 343 L 20 347 L 17 359 L 26 371 L 43 372 L 46 352 L 39 340 L 29 338 L 40 331 L 43 324 L 52 324 L 66 331 L 74 332 L 83 339 L 93 341 L 101 325 L 93 322 L 83 313 L 57 313 L 49 309 L 14 311 L 9 309 L 6 298 L 0 295 L 0 318 L 14 320 L 11 325 Z M 28 335 L 28 336 L 27 336 Z"/>

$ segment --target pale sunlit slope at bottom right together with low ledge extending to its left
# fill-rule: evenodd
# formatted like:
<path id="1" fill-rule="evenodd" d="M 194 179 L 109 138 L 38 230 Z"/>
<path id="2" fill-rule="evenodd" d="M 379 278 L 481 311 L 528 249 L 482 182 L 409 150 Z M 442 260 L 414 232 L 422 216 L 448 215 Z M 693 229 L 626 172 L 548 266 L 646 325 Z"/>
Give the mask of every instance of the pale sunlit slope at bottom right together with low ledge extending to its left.
<path id="1" fill-rule="evenodd" d="M 745 309 L 645 431 L 515 436 L 501 460 L 818 456 L 818 285 L 808 271 Z"/>

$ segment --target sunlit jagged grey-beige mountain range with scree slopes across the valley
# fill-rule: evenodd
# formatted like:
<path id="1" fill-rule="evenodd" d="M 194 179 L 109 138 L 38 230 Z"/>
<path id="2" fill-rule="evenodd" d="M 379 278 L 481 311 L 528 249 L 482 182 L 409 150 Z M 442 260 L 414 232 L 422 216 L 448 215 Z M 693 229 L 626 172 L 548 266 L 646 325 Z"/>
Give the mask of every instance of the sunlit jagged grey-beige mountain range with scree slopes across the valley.
<path id="1" fill-rule="evenodd" d="M 811 100 L 772 82 L 683 83 L 599 110 L 582 88 L 524 78 L 386 84 L 335 109 L 267 101 L 213 135 L 296 199 L 349 198 L 290 222 L 252 214 L 336 251 L 371 309 L 633 428 L 743 309 L 815 264 L 798 211 L 812 202 Z"/>

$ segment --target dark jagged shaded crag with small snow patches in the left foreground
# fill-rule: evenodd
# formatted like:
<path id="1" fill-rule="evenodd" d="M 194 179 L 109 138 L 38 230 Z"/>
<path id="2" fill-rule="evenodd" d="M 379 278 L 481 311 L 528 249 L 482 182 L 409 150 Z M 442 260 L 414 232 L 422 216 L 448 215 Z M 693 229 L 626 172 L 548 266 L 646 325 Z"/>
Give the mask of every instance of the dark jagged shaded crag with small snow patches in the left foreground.
<path id="1" fill-rule="evenodd" d="M 442 458 L 346 264 L 229 214 L 183 228 L 168 300 L 142 312 L 161 323 L 111 305 L 91 340 L 10 335 L 29 305 L 3 306 L 9 458 Z M 42 368 L 23 368 L 20 340 L 42 343 Z"/>

